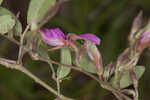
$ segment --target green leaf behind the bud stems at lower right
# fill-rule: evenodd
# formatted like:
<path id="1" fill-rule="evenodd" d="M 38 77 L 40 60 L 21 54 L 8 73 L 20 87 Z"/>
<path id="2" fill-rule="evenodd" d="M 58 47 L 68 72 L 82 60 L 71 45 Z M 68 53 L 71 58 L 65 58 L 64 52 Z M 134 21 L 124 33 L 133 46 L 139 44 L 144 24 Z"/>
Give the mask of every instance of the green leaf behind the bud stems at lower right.
<path id="1" fill-rule="evenodd" d="M 139 80 L 145 72 L 144 66 L 136 66 L 134 67 L 134 72 L 136 74 L 137 79 Z M 115 84 L 114 78 L 111 80 L 111 84 L 113 87 L 117 87 Z M 124 73 L 122 79 L 120 80 L 120 88 L 126 88 L 132 84 L 132 80 L 130 78 L 129 72 Z"/>

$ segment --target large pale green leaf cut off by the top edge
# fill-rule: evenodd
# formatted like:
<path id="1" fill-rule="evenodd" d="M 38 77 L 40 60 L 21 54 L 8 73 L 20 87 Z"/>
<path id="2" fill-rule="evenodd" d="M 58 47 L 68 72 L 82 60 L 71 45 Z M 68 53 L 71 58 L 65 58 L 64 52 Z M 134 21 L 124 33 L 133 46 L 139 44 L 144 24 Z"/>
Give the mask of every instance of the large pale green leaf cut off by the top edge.
<path id="1" fill-rule="evenodd" d="M 28 24 L 40 22 L 55 3 L 56 0 L 31 0 L 27 15 Z"/>

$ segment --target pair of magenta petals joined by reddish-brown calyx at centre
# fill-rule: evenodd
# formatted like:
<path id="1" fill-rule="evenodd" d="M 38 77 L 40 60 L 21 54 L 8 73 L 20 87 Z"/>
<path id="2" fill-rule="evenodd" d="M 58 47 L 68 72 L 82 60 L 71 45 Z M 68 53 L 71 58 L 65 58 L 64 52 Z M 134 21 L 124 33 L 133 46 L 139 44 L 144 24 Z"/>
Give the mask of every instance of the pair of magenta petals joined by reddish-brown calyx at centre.
<path id="1" fill-rule="evenodd" d="M 76 35 L 68 34 L 67 36 L 59 28 L 42 29 L 41 36 L 44 42 L 51 46 L 61 46 L 71 44 L 71 40 L 84 39 L 95 44 L 100 44 L 100 39 L 91 33 Z"/>

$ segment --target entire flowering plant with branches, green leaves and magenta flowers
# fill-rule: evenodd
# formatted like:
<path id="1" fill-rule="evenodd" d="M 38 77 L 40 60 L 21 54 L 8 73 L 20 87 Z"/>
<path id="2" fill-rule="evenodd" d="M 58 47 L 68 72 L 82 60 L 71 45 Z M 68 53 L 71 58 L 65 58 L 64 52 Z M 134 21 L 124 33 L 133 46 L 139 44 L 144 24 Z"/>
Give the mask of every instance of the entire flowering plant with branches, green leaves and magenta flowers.
<path id="1" fill-rule="evenodd" d="M 142 12 L 133 21 L 127 47 L 113 63 L 103 66 L 101 53 L 97 48 L 101 40 L 92 33 L 66 36 L 60 28 L 47 29 L 43 25 L 59 10 L 63 0 L 31 0 L 27 23 L 22 30 L 18 15 L 0 7 L 0 34 L 19 46 L 18 59 L 0 58 L 0 64 L 23 72 L 35 82 L 56 95 L 55 100 L 74 100 L 61 93 L 60 84 L 76 70 L 86 74 L 99 83 L 99 86 L 112 92 L 118 100 L 138 100 L 138 81 L 145 67 L 137 65 L 143 50 L 150 46 L 150 21 L 143 27 Z M 0 4 L 2 0 L 0 0 Z M 35 6 L 36 5 L 36 6 Z M 18 39 L 19 38 L 19 39 Z M 83 42 L 80 42 L 83 41 Z M 47 44 L 47 47 L 43 47 Z M 50 59 L 48 52 L 60 51 L 60 62 Z M 56 82 L 57 90 L 33 75 L 24 67 L 22 58 L 28 53 L 33 60 L 49 64 L 52 79 Z M 57 71 L 53 64 L 59 65 Z M 133 85 L 133 88 L 128 86 Z"/>

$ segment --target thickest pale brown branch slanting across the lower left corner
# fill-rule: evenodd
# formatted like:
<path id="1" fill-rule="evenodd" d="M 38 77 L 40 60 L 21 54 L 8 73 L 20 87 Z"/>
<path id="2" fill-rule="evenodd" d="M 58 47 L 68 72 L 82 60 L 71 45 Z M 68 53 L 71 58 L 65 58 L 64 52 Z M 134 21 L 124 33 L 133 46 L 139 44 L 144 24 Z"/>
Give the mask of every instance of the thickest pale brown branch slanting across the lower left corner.
<path id="1" fill-rule="evenodd" d="M 28 71 L 22 65 L 16 64 L 16 61 L 0 58 L 0 64 L 4 65 L 7 68 L 16 69 L 18 71 L 23 72 L 24 74 L 26 74 L 27 76 L 29 76 L 31 79 L 33 79 L 36 83 L 40 84 L 41 86 L 43 86 L 44 88 L 46 88 L 48 91 L 52 92 L 53 94 L 57 95 L 58 97 L 60 97 L 63 100 L 73 100 L 71 98 L 68 98 L 68 97 L 65 97 L 65 96 L 59 94 L 52 87 L 50 87 L 45 82 L 43 82 L 42 80 L 40 80 L 38 77 L 36 77 L 35 75 L 33 75 L 30 71 Z"/>

